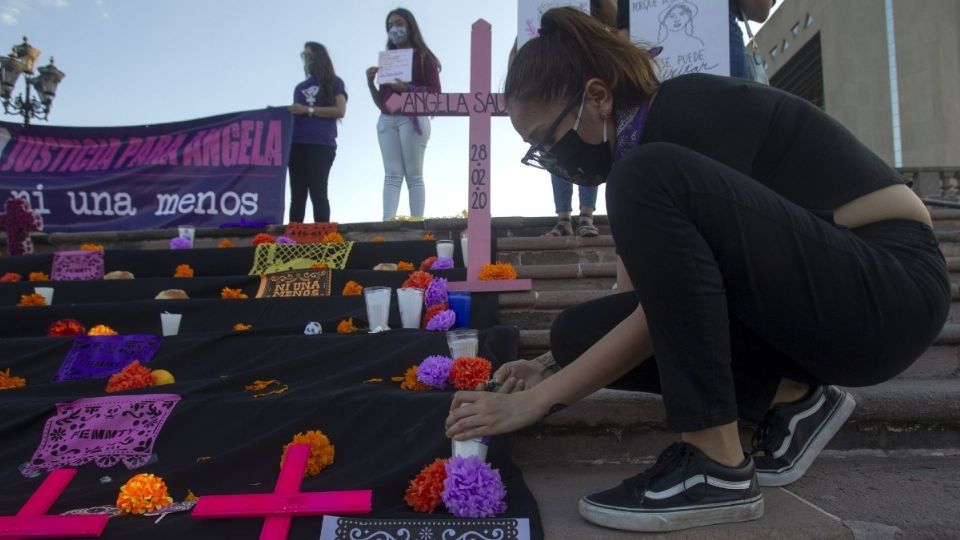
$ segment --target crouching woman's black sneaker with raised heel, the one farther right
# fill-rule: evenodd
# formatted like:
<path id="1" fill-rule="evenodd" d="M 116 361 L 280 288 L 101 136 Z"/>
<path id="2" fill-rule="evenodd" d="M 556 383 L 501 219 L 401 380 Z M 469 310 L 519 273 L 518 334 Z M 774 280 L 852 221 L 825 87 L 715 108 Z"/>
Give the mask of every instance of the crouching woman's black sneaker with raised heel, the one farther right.
<path id="1" fill-rule="evenodd" d="M 856 406 L 853 396 L 836 386 L 817 386 L 767 411 L 753 434 L 760 485 L 785 486 L 803 476 Z"/>

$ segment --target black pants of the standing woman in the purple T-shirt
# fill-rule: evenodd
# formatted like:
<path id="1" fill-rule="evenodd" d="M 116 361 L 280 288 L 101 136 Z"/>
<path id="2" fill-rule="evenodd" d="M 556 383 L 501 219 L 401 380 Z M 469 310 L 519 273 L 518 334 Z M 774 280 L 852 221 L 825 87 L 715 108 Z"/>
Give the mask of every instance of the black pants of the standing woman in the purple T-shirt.
<path id="1" fill-rule="evenodd" d="M 330 221 L 327 181 L 337 147 L 325 144 L 293 143 L 290 148 L 290 221 L 302 223 L 307 210 L 307 193 L 313 202 L 313 221 Z"/>

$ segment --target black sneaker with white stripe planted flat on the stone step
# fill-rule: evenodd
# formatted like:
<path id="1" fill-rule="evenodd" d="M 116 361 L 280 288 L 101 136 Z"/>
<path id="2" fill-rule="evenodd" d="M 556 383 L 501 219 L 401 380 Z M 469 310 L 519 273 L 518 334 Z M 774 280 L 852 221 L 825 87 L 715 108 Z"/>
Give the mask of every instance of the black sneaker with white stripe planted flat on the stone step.
<path id="1" fill-rule="evenodd" d="M 674 443 L 646 471 L 580 499 L 587 521 L 625 531 L 662 532 L 749 521 L 763 515 L 753 459 L 725 467 Z"/>

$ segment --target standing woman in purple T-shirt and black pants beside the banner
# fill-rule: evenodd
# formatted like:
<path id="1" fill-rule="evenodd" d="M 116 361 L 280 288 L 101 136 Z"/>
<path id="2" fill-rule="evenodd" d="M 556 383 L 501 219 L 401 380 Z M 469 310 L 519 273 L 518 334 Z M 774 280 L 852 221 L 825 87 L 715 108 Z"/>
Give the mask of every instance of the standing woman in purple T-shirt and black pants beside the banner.
<path id="1" fill-rule="evenodd" d="M 307 194 L 313 220 L 330 221 L 327 183 L 337 155 L 337 120 L 347 112 L 347 91 L 323 45 L 308 41 L 300 53 L 307 79 L 293 90 L 293 147 L 290 149 L 290 221 L 303 222 Z"/>

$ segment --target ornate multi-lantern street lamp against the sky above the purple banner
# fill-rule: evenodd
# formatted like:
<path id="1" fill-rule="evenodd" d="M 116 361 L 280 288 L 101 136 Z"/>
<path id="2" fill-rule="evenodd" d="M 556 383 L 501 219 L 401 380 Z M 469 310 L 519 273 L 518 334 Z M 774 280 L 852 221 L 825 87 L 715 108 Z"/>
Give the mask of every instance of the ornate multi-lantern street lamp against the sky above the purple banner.
<path id="1" fill-rule="evenodd" d="M 13 47 L 10 56 L 0 56 L 0 99 L 3 100 L 3 111 L 23 116 L 23 123 L 27 125 L 31 118 L 47 119 L 53 98 L 57 94 L 57 85 L 66 76 L 53 65 L 52 56 L 49 64 L 37 69 L 40 74 L 34 75 L 38 58 L 40 49 L 31 46 L 27 42 L 27 36 L 23 36 L 23 43 Z M 13 98 L 13 88 L 21 73 L 27 90 L 25 94 Z M 39 99 L 30 95 L 31 89 L 36 90 Z"/>

